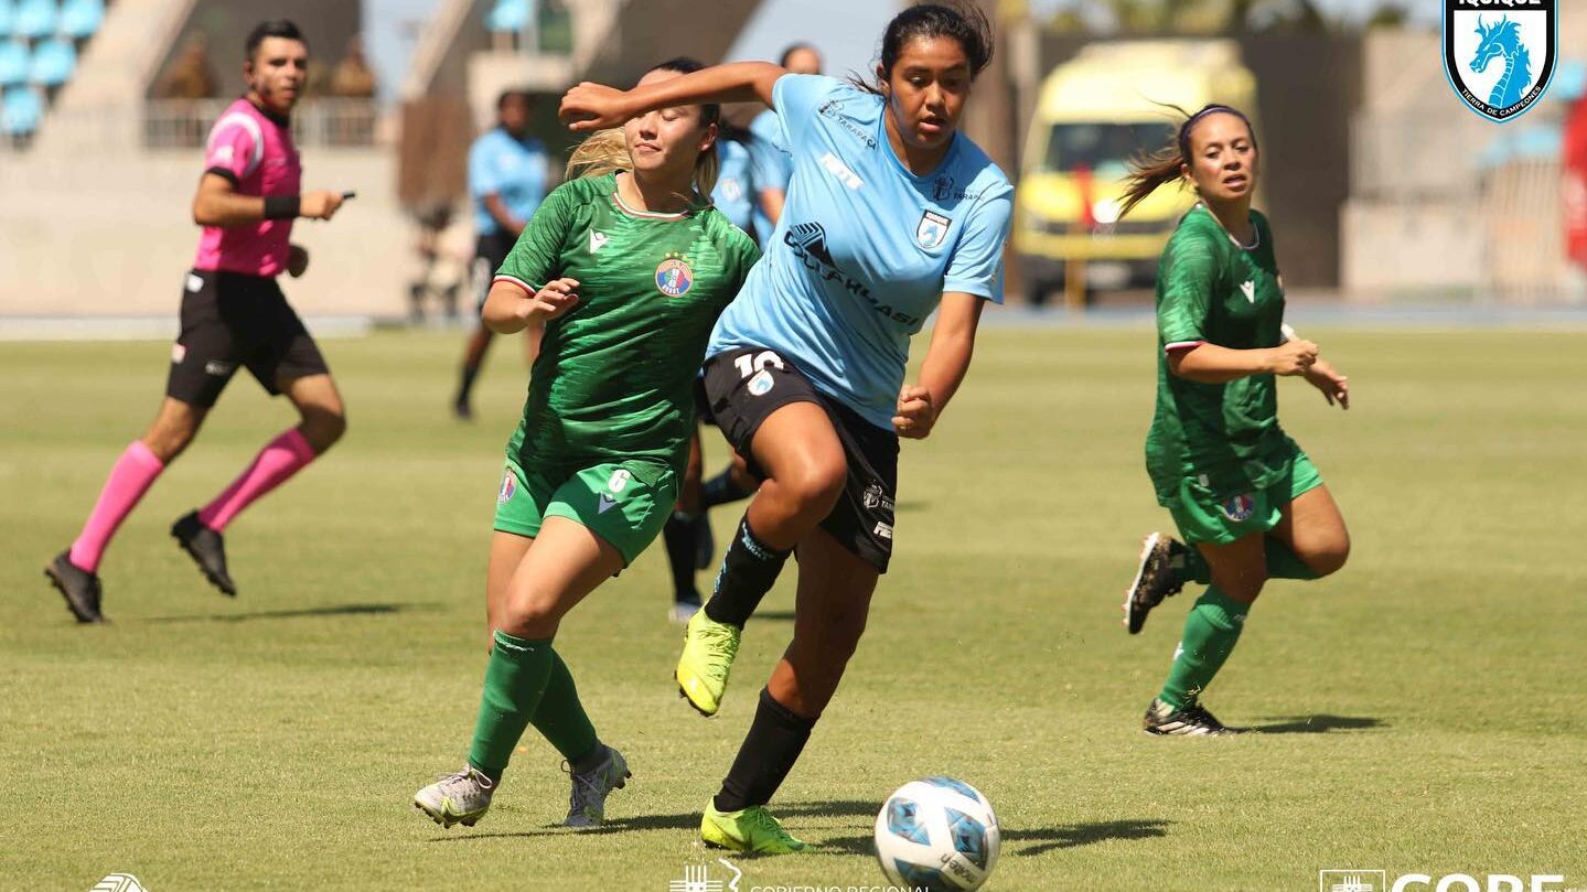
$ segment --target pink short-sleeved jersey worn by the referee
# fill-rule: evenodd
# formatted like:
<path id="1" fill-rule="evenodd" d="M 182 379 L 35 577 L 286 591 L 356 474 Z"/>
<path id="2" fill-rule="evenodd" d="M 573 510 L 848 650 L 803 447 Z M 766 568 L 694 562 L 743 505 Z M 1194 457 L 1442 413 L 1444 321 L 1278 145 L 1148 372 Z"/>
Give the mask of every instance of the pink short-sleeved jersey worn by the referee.
<path id="1" fill-rule="evenodd" d="M 276 117 L 240 98 L 209 130 L 205 173 L 232 181 L 238 195 L 297 195 L 303 178 L 292 130 Z M 278 276 L 287 267 L 292 221 L 260 221 L 251 225 L 203 227 L 197 270 L 225 270 L 249 276 Z"/>

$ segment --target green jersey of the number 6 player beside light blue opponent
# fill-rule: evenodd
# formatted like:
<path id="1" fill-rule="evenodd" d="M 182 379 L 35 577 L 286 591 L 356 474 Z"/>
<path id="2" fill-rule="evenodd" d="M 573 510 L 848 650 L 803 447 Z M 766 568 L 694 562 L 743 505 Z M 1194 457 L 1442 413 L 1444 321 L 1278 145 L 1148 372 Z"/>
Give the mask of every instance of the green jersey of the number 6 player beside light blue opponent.
<path id="1" fill-rule="evenodd" d="M 495 281 L 535 292 L 573 278 L 579 303 L 546 325 L 508 457 L 570 471 L 652 459 L 681 473 L 706 340 L 759 256 L 716 208 L 627 208 L 614 175 L 552 190 Z"/>

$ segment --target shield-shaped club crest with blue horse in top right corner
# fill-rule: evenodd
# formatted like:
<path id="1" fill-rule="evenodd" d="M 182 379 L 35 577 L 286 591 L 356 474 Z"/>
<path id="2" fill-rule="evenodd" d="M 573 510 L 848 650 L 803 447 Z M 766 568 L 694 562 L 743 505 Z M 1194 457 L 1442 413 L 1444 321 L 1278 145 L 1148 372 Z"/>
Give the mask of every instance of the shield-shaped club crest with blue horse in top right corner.
<path id="1" fill-rule="evenodd" d="M 1489 121 L 1531 111 L 1554 79 L 1558 43 L 1558 0 L 1444 0 L 1444 73 Z"/>

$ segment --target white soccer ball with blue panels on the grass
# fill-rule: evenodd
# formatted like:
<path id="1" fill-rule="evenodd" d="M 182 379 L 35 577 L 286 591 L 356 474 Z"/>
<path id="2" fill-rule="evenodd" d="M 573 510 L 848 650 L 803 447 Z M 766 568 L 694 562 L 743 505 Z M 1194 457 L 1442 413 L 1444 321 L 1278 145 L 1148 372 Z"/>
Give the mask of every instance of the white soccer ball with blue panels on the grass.
<path id="1" fill-rule="evenodd" d="M 876 859 L 897 886 L 979 889 L 997 867 L 1001 841 L 992 803 L 954 778 L 909 781 L 876 814 Z"/>

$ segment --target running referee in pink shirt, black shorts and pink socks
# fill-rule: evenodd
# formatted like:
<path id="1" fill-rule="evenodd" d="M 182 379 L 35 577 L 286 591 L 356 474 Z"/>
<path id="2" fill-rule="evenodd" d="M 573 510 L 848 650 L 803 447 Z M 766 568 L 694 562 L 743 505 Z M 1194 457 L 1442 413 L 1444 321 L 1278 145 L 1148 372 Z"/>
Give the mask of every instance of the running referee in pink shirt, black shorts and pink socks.
<path id="1" fill-rule="evenodd" d="M 203 235 L 186 276 L 165 402 L 148 433 L 116 460 L 76 541 L 44 568 L 79 622 L 105 621 L 98 578 L 105 548 L 160 471 L 192 443 L 240 367 L 271 395 L 292 400 L 300 422 L 267 443 L 213 502 L 171 525 L 176 543 L 224 594 L 236 594 L 225 565 L 225 527 L 348 429 L 325 359 L 276 284 L 282 271 L 297 278 L 308 268 L 308 251 L 289 241 L 292 221 L 329 221 L 343 202 L 340 192 L 298 192 L 303 168 L 289 116 L 308 79 L 308 43 L 297 25 L 257 25 L 248 37 L 243 76 L 248 95 L 209 132 L 194 197 L 194 222 Z"/>

